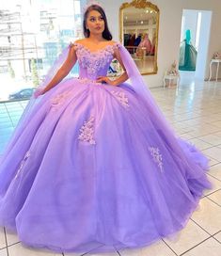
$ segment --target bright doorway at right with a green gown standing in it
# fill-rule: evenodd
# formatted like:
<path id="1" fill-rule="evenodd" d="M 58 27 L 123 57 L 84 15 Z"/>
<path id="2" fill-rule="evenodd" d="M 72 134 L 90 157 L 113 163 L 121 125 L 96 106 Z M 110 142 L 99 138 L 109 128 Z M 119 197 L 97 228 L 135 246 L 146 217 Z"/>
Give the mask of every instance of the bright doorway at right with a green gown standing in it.
<path id="1" fill-rule="evenodd" d="M 190 56 L 193 58 L 191 67 L 180 70 L 182 84 L 189 84 L 196 80 L 203 81 L 206 72 L 206 61 L 208 55 L 208 47 L 211 33 L 212 11 L 183 9 L 182 11 L 182 33 L 181 33 L 181 51 L 180 60 L 182 61 L 183 41 L 186 40 L 186 35 L 190 35 L 190 45 L 192 51 Z M 186 33 L 189 30 L 189 34 Z M 188 37 L 188 36 L 187 36 Z M 196 60 L 194 56 L 196 50 Z M 193 68 L 195 66 L 195 68 Z"/>

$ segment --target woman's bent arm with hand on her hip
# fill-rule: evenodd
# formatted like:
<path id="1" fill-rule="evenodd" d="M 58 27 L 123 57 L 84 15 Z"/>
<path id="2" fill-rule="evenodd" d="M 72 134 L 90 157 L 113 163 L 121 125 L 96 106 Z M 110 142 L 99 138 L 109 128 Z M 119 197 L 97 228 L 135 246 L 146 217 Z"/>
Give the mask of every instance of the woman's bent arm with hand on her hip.
<path id="1" fill-rule="evenodd" d="M 123 65 L 123 62 L 122 62 L 122 59 L 121 59 L 120 54 L 118 52 L 118 49 L 115 49 L 114 57 L 118 60 L 118 63 L 120 64 L 120 66 L 122 67 L 124 72 L 115 80 L 110 80 L 106 76 L 99 76 L 98 79 L 97 79 L 97 82 L 105 82 L 105 83 L 107 83 L 111 86 L 117 87 L 119 84 L 127 81 L 128 74 L 127 74 L 126 69 Z"/>

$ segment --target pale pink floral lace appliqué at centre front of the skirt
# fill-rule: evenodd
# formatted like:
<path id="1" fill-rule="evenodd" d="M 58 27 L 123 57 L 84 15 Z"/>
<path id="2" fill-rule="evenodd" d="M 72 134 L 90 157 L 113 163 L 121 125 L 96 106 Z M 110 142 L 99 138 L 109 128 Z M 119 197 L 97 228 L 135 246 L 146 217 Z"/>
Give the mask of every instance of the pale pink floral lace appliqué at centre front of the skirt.
<path id="1" fill-rule="evenodd" d="M 85 121 L 83 126 L 80 129 L 80 135 L 78 139 L 86 141 L 89 144 L 96 144 L 93 135 L 94 135 L 94 117 L 91 117 L 89 120 Z"/>

